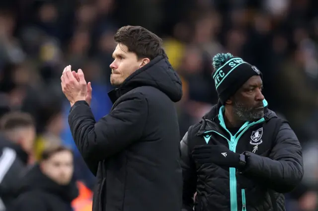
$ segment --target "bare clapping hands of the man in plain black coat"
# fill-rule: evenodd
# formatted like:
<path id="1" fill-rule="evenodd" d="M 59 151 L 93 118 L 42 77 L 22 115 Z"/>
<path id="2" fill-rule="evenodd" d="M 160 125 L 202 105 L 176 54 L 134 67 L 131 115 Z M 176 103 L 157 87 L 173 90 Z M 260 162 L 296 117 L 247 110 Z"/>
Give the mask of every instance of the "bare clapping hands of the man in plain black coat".
<path id="1" fill-rule="evenodd" d="M 76 75 L 76 74 L 75 74 Z M 67 66 L 63 74 L 61 76 L 61 86 L 63 93 L 68 98 L 71 103 L 71 106 L 75 104 L 75 102 L 80 100 L 86 100 L 86 96 L 88 95 L 88 100 L 90 102 L 91 99 L 91 91 L 88 94 L 88 84 L 86 84 L 84 73 L 82 70 L 78 70 L 78 78 L 74 76 L 72 73 L 71 66 Z M 90 86 L 90 83 L 89 83 Z M 91 90 L 91 89 L 90 89 Z"/>

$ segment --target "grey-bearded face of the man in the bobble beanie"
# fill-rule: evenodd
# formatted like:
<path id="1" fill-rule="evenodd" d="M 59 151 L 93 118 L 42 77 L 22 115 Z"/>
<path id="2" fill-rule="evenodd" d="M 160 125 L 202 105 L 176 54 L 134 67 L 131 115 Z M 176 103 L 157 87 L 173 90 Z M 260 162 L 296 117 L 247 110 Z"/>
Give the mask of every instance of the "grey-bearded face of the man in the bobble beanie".
<path id="1" fill-rule="evenodd" d="M 250 77 L 233 97 L 234 115 L 241 121 L 255 121 L 264 117 L 263 82 L 260 76 Z"/>

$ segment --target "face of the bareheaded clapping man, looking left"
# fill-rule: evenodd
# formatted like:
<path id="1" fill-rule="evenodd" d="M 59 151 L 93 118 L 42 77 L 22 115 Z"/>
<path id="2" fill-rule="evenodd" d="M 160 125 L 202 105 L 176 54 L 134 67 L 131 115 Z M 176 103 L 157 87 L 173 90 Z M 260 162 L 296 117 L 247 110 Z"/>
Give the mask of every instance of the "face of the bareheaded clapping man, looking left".
<path id="1" fill-rule="evenodd" d="M 110 83 L 114 86 L 121 85 L 134 71 L 143 66 L 143 60 L 138 60 L 137 55 L 128 52 L 127 46 L 118 44 L 113 52 L 114 62 L 110 64 Z"/>

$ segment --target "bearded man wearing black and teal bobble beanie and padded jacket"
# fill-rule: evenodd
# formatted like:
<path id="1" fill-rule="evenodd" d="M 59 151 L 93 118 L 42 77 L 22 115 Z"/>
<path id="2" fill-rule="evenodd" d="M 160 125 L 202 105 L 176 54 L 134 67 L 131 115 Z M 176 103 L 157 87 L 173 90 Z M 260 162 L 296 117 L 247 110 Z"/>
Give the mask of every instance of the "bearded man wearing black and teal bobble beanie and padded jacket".
<path id="1" fill-rule="evenodd" d="M 300 143 L 268 109 L 255 66 L 229 53 L 213 66 L 219 103 L 181 141 L 182 211 L 285 211 L 303 177 Z"/>

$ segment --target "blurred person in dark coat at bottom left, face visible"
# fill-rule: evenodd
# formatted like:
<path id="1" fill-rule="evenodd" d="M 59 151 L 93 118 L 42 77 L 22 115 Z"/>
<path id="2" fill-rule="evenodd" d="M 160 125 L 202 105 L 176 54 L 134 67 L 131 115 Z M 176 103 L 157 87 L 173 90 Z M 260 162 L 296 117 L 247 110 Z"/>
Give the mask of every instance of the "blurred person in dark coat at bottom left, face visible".
<path id="1" fill-rule="evenodd" d="M 70 149 L 46 148 L 39 163 L 23 176 L 14 211 L 72 211 L 72 201 L 79 195 L 73 169 Z"/>

